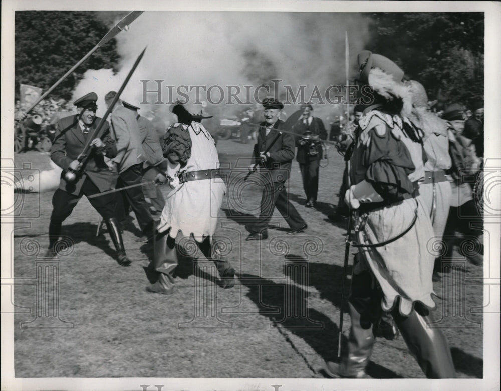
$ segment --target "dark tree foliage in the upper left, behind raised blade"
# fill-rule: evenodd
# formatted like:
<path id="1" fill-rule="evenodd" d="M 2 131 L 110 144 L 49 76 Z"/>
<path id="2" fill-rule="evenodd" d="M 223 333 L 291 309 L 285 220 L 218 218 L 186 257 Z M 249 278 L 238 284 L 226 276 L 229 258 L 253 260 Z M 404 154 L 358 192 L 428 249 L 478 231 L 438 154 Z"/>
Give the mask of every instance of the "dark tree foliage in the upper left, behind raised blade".
<path id="1" fill-rule="evenodd" d="M 110 30 L 96 12 L 17 11 L 15 14 L 15 87 L 44 91 L 71 69 Z M 116 40 L 96 50 L 51 96 L 68 100 L 88 69 L 117 71 Z"/>

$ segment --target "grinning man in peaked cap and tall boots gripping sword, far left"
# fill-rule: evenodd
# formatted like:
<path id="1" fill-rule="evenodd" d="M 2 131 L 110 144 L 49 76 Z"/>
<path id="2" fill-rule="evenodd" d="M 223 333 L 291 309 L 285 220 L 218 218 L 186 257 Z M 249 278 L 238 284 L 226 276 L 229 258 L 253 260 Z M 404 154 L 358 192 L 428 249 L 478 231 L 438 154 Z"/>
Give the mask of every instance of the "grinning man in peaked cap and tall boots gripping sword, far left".
<path id="1" fill-rule="evenodd" d="M 63 169 L 59 188 L 52 197 L 54 209 L 49 225 L 49 250 L 48 257 L 56 255 L 56 242 L 61 234 L 63 221 L 71 214 L 82 195 L 87 197 L 111 189 L 112 173 L 104 161 L 104 156 L 113 158 L 117 154 L 115 141 L 110 136 L 108 122 L 103 125 L 100 138 L 91 141 L 92 148 L 84 164 L 77 159 L 86 145 L 88 137 L 102 121 L 96 117 L 97 95 L 91 92 L 75 100 L 78 114 L 60 119 L 56 123 L 56 133 L 51 147 L 51 159 Z M 68 170 L 79 171 L 76 180 L 69 182 L 65 173 Z M 115 193 L 105 194 L 89 199 L 90 204 L 103 217 L 111 240 L 116 249 L 118 263 L 129 266 L 131 260 L 125 253 L 125 248 L 120 233 L 118 221 L 115 218 Z"/>

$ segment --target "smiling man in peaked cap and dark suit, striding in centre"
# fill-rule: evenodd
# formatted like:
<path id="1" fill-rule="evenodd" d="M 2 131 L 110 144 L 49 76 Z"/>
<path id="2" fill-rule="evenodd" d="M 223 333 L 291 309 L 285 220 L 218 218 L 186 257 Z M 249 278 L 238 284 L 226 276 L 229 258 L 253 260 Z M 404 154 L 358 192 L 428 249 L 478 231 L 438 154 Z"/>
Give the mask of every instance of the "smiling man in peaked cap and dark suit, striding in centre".
<path id="1" fill-rule="evenodd" d="M 279 115 L 284 105 L 274 98 L 265 98 L 262 104 L 265 108 L 265 121 L 260 124 L 258 142 L 254 145 L 253 162 L 249 171 L 254 172 L 259 167 L 264 188 L 258 222 L 250 228 L 246 240 L 268 238 L 267 227 L 275 208 L 291 227 L 287 234 L 295 235 L 308 228 L 305 220 L 289 201 L 285 188 L 291 173 L 295 146 L 294 136 L 280 131 L 284 122 L 279 119 Z"/>

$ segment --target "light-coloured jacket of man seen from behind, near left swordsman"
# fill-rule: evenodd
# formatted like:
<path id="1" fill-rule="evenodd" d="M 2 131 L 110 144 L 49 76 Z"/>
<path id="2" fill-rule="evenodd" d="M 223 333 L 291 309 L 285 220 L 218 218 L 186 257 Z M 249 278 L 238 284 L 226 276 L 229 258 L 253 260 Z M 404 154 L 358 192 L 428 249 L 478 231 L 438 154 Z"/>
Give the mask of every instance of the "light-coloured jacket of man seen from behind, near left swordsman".
<path id="1" fill-rule="evenodd" d="M 111 114 L 111 129 L 117 143 L 117 155 L 113 161 L 117 163 L 118 173 L 146 161 L 141 131 L 133 111 L 115 107 Z"/>

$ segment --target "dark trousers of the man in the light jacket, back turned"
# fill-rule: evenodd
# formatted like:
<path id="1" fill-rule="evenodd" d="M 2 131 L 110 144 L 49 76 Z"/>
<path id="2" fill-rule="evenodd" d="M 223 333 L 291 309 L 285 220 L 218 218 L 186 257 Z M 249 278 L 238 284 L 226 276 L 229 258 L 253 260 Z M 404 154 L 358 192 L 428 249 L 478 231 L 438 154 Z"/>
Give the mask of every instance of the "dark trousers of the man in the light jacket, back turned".
<path id="1" fill-rule="evenodd" d="M 143 189 L 141 186 L 142 170 L 141 164 L 133 165 L 118 175 L 117 188 L 137 185 L 136 187 L 123 190 L 124 203 L 130 205 L 136 215 L 137 223 L 143 233 L 153 231 L 153 217 L 150 213 L 148 203 L 144 199 Z M 125 213 L 119 211 L 117 213 L 121 219 Z"/>

